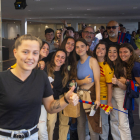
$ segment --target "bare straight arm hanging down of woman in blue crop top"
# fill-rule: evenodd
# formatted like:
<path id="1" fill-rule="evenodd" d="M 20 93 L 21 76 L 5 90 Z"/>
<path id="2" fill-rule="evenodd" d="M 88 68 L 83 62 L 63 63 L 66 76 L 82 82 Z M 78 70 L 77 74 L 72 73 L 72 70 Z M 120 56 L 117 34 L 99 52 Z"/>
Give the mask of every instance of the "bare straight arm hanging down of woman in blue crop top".
<path id="1" fill-rule="evenodd" d="M 98 108 L 100 105 L 100 68 L 95 58 L 90 58 L 90 67 L 92 68 L 94 75 L 95 90 L 96 90 L 95 104 L 97 104 Z"/>

